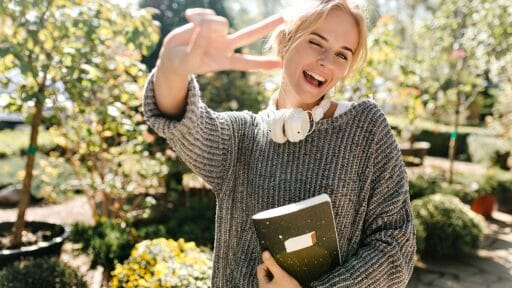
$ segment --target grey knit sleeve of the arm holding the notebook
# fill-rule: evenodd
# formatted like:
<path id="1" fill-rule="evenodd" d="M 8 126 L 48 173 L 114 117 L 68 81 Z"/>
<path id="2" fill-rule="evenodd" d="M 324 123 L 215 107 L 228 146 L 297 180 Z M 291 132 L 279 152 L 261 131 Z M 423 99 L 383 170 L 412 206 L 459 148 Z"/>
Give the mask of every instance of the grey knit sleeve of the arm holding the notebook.
<path id="1" fill-rule="evenodd" d="M 379 109 L 371 192 L 359 250 L 312 287 L 405 287 L 416 252 L 407 174 L 401 153 Z"/>

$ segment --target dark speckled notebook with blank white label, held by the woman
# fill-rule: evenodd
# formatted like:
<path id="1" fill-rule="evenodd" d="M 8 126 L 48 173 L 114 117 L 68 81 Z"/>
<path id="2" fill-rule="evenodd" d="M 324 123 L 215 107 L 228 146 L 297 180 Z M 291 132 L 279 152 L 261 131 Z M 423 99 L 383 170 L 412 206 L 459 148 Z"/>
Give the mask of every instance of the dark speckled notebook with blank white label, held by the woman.
<path id="1" fill-rule="evenodd" d="M 252 217 L 262 250 L 302 286 L 340 265 L 331 199 L 327 194 L 265 210 Z"/>

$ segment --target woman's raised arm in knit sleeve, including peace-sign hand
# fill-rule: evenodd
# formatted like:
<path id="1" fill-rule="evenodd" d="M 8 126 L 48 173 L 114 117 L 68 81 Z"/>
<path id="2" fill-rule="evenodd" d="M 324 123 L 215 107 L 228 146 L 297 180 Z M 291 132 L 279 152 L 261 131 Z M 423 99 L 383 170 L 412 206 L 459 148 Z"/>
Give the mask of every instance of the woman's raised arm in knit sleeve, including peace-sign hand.
<path id="1" fill-rule="evenodd" d="M 208 9 L 189 9 L 189 24 L 167 35 L 156 69 L 146 83 L 143 110 L 151 128 L 166 138 L 180 158 L 212 187 L 221 185 L 236 159 L 243 115 L 216 113 L 200 97 L 193 74 L 220 70 L 270 69 L 280 61 L 232 54 L 282 23 L 271 17 L 228 35 L 225 18 Z"/>

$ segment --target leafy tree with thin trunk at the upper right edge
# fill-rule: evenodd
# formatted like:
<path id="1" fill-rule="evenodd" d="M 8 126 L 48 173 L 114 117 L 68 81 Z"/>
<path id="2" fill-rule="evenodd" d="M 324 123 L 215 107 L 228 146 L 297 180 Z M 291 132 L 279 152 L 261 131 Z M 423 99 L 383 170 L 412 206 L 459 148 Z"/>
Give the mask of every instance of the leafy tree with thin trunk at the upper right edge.
<path id="1" fill-rule="evenodd" d="M 424 65 L 429 67 L 426 76 L 437 82 L 431 90 L 437 89 L 437 101 L 452 115 L 451 182 L 458 127 L 464 116 L 461 114 L 487 90 L 493 62 L 510 53 L 512 19 L 506 0 L 448 0 L 437 4 L 417 41 L 428 51 L 420 60 L 430 63 Z"/>

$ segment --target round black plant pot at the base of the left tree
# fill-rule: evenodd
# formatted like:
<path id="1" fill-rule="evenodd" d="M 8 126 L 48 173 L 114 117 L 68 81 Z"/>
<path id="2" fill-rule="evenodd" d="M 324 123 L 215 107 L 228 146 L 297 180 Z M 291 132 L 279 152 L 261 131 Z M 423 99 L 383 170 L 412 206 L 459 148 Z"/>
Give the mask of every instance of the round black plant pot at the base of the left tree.
<path id="1" fill-rule="evenodd" d="M 14 222 L 0 222 L 0 233 L 9 233 Z M 48 222 L 31 221 L 26 222 L 25 227 L 32 231 L 50 231 L 51 235 L 47 241 L 24 246 L 19 249 L 0 250 L 0 268 L 7 266 L 19 259 L 27 257 L 59 256 L 64 240 L 69 236 L 69 227 Z"/>

